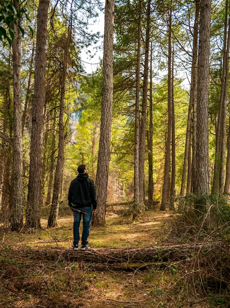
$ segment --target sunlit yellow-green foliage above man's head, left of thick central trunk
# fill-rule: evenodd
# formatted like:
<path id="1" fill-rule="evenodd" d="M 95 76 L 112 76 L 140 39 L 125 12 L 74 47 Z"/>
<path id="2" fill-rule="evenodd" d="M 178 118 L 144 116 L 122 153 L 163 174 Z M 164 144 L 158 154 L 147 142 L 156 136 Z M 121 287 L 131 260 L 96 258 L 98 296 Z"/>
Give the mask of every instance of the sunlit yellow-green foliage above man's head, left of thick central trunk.
<path id="1" fill-rule="evenodd" d="M 102 71 L 82 79 L 79 95 L 70 106 L 70 112 L 80 115 L 73 135 L 73 143 L 66 147 L 66 170 L 76 176 L 78 165 L 86 163 L 89 176 L 95 180 L 97 151 L 100 136 L 102 99 Z"/>

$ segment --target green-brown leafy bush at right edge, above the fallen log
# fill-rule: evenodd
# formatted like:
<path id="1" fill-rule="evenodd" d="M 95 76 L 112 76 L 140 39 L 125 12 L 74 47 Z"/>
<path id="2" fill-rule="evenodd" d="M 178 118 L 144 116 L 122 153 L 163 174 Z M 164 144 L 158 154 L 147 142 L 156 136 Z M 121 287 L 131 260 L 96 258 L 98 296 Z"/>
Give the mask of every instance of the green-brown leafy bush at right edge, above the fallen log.
<path id="1" fill-rule="evenodd" d="M 171 239 L 175 235 L 181 243 L 218 240 L 230 244 L 230 201 L 224 196 L 188 195 L 176 199 L 175 208 Z"/>

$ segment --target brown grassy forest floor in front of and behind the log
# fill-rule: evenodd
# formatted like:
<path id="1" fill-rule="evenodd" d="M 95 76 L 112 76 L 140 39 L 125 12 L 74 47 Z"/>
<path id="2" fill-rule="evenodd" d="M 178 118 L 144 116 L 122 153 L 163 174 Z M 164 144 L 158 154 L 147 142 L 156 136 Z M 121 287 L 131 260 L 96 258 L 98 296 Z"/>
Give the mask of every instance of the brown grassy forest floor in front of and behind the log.
<path id="1" fill-rule="evenodd" d="M 125 207 L 110 206 L 106 227 L 90 229 L 90 250 L 174 244 L 168 238 L 169 219 L 170 212 L 148 210 L 133 221 Z M 143 263 L 115 271 L 109 265 L 100 268 L 90 262 L 38 257 L 34 249 L 46 249 L 49 254 L 62 248 L 73 253 L 70 212 L 59 216 L 56 228 L 46 228 L 47 217 L 41 223 L 39 232 L 0 231 L 2 308 L 228 307 L 211 291 L 194 291 L 200 282 L 186 279 L 184 261 Z"/>

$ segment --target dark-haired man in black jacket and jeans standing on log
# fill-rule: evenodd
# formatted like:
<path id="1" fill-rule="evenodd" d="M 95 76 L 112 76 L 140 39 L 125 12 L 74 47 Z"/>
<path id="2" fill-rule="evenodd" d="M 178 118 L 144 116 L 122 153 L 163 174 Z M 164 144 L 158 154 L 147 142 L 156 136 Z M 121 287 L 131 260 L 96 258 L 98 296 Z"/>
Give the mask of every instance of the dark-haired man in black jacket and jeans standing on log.
<path id="1" fill-rule="evenodd" d="M 69 186 L 68 202 L 73 212 L 73 249 L 78 250 L 78 242 L 80 241 L 79 226 L 83 216 L 83 232 L 82 232 L 82 250 L 89 249 L 87 238 L 89 235 L 89 226 L 92 218 L 92 212 L 96 212 L 97 200 L 96 191 L 93 180 L 88 177 L 86 165 L 78 167 L 78 176 L 71 182 Z"/>

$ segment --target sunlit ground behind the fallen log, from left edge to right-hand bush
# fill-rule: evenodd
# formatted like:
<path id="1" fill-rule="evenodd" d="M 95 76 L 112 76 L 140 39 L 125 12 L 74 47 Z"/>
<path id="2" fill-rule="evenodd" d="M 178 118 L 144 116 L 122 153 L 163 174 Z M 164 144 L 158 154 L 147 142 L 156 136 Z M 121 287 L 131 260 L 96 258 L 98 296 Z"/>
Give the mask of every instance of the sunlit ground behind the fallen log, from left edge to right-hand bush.
<path id="1" fill-rule="evenodd" d="M 89 244 L 92 248 L 111 247 L 144 247 L 161 245 L 161 226 L 170 216 L 169 212 L 147 211 L 138 221 L 131 221 L 126 216 L 109 212 L 106 216 L 106 226 L 94 228 L 91 226 Z M 29 245 L 70 248 L 73 242 L 73 216 L 58 217 L 58 226 L 47 227 L 47 218 L 41 219 L 42 229 L 37 233 L 8 233 L 3 242 L 9 245 Z M 80 234 L 82 223 L 80 225 Z"/>

